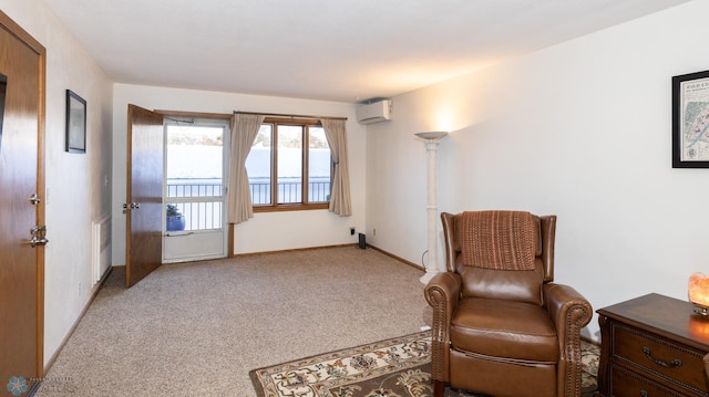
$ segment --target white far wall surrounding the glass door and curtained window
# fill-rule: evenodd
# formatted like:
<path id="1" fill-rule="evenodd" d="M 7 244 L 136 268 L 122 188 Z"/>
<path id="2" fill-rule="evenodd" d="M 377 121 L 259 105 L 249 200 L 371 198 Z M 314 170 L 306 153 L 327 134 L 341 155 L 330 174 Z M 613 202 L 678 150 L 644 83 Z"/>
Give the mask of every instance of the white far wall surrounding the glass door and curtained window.
<path id="1" fill-rule="evenodd" d="M 306 247 L 354 243 L 350 227 L 363 231 L 366 128 L 356 122 L 354 105 L 274 96 L 229 94 L 154 86 L 116 84 L 113 158 L 113 263 L 125 264 L 126 114 L 127 104 L 148 109 L 232 114 L 234 111 L 348 117 L 348 149 L 352 191 L 352 216 L 327 210 L 256 213 L 235 228 L 235 253 L 278 251 Z"/>

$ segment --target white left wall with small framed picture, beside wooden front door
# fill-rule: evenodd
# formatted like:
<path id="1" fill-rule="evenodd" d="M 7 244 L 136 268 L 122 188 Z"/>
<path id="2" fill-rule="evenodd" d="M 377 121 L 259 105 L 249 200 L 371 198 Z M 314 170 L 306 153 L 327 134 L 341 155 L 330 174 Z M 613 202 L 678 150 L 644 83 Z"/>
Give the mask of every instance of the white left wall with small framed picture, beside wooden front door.
<path id="1" fill-rule="evenodd" d="M 105 73 L 43 2 L 0 0 L 0 9 L 47 49 L 47 364 L 93 291 L 91 222 L 111 210 L 111 182 L 104 177 L 111 177 L 112 87 Z M 88 103 L 86 154 L 64 152 L 66 90 Z"/>

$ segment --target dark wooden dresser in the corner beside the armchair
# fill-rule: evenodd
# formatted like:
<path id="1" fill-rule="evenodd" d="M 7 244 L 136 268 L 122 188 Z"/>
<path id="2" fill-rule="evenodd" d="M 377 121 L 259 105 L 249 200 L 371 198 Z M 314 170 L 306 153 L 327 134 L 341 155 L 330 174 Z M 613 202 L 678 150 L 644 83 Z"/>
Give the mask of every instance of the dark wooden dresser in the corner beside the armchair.
<path id="1" fill-rule="evenodd" d="M 709 396 L 709 318 L 689 302 L 648 294 L 597 311 L 604 396 Z"/>

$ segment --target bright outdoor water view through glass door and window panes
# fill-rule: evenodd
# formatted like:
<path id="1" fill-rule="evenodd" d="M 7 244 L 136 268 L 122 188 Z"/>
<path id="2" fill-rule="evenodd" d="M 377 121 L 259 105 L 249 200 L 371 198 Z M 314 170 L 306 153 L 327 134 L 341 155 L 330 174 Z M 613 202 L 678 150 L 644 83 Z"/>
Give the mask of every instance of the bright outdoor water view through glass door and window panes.
<path id="1" fill-rule="evenodd" d="M 302 200 L 304 171 L 307 174 L 308 202 L 330 200 L 330 148 L 321 126 L 275 126 L 264 124 L 246 160 L 254 206 L 273 205 L 271 178 L 277 175 L 277 203 Z M 166 134 L 166 230 L 214 230 L 223 227 L 225 181 L 224 125 L 171 123 Z M 307 156 L 304 156 L 307 140 Z M 277 173 L 271 155 L 277 153 Z M 307 158 L 307 167 L 304 161 Z M 175 218 L 175 219 L 173 219 Z M 177 219 L 181 218 L 181 219 Z M 183 222 L 184 224 L 181 224 Z"/>

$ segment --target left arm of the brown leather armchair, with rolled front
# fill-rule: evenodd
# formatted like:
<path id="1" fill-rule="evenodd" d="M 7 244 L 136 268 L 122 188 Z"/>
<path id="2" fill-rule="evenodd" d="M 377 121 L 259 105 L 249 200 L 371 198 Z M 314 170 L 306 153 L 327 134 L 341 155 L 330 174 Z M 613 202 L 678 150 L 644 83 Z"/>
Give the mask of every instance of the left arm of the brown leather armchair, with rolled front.
<path id="1" fill-rule="evenodd" d="M 461 294 L 461 276 L 453 272 L 438 273 L 429 281 L 423 293 L 433 309 L 431 375 L 435 380 L 449 382 L 451 320 Z"/>

